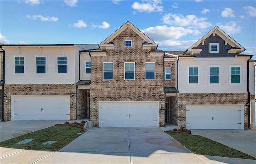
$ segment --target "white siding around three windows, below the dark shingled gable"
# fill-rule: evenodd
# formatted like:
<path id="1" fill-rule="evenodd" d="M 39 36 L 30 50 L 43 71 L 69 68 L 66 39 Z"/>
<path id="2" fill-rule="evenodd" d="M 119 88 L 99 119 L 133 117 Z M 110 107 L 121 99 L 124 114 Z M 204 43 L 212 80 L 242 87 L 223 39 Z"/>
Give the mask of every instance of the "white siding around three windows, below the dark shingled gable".
<path id="1" fill-rule="evenodd" d="M 178 89 L 180 93 L 247 93 L 247 59 L 188 58 L 180 57 L 178 63 Z M 230 67 L 240 67 L 240 83 L 230 83 Z M 198 84 L 188 83 L 188 67 L 198 67 Z M 209 83 L 209 67 L 219 67 L 219 83 Z"/>

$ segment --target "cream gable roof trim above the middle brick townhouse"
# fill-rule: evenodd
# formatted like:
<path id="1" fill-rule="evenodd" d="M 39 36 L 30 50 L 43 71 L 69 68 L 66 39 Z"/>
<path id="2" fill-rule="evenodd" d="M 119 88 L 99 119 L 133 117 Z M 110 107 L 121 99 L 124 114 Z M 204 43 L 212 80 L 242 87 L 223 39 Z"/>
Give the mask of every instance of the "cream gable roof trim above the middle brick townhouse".
<path id="1" fill-rule="evenodd" d="M 123 32 L 128 27 L 146 41 L 146 43 L 143 43 L 142 45 L 150 46 L 152 51 L 156 50 L 158 45 L 153 40 L 148 38 L 148 36 L 146 36 L 138 28 L 136 28 L 133 24 L 131 24 L 129 21 L 127 21 L 123 26 L 118 28 L 113 34 L 111 34 L 108 38 L 102 41 L 99 44 L 100 49 L 105 50 L 106 46 L 113 45 L 113 43 L 110 43 L 110 41 L 112 41 L 116 36 L 118 36 L 121 32 Z"/>

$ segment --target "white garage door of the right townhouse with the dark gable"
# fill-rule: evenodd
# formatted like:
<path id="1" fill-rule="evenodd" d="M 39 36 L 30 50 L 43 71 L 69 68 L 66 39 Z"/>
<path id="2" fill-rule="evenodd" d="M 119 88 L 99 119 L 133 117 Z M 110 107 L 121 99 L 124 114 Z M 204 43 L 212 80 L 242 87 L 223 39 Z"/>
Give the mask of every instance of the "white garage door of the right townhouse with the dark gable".
<path id="1" fill-rule="evenodd" d="M 186 105 L 188 129 L 244 129 L 243 105 Z"/>

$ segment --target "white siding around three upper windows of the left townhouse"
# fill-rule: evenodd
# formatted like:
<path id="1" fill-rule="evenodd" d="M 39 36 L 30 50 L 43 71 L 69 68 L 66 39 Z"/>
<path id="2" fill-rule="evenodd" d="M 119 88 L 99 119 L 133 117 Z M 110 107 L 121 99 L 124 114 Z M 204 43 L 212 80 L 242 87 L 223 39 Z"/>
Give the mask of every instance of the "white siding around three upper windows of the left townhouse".
<path id="1" fill-rule="evenodd" d="M 21 53 L 16 49 L 6 49 L 6 84 L 74 84 L 75 56 L 74 47 L 21 47 Z M 14 73 L 14 57 L 24 56 L 24 74 Z M 46 74 L 36 73 L 36 57 L 46 57 Z M 67 73 L 57 73 L 57 57 L 67 57 Z"/>

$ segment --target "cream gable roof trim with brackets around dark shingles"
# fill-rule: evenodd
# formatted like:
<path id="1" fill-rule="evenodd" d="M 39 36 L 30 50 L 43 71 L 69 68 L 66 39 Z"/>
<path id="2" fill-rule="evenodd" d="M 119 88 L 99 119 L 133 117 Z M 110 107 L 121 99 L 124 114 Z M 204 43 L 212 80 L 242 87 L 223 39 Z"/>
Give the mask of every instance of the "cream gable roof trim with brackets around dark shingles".
<path id="1" fill-rule="evenodd" d="M 210 32 L 208 32 L 205 36 L 203 36 L 200 40 L 198 40 L 196 43 L 194 43 L 191 47 L 189 47 L 184 55 L 192 55 L 195 52 L 200 52 L 201 49 L 197 49 L 196 47 L 202 43 L 204 45 L 204 40 L 208 38 L 210 35 L 215 36 L 217 34 L 225 41 L 225 45 L 229 44 L 232 48 L 230 49 L 230 53 L 241 53 L 245 51 L 246 49 L 237 43 L 234 39 L 232 39 L 228 34 L 226 34 L 223 30 L 221 30 L 218 26 L 215 26 Z M 202 50 L 201 50 L 202 51 Z"/>

